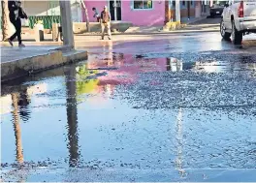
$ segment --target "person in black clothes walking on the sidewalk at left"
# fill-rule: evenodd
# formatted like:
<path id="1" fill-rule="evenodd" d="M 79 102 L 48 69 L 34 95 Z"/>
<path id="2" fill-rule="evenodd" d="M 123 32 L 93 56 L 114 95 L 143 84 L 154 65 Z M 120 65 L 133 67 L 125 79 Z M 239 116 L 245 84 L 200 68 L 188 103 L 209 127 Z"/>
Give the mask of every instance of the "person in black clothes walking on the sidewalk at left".
<path id="1" fill-rule="evenodd" d="M 21 20 L 20 18 L 26 18 L 27 15 L 24 13 L 23 9 L 21 8 L 20 1 L 8 1 L 8 9 L 9 9 L 9 18 L 10 21 L 16 28 L 16 33 L 8 39 L 8 42 L 11 46 L 14 46 L 13 41 L 17 37 L 18 46 L 24 47 L 21 40 Z"/>

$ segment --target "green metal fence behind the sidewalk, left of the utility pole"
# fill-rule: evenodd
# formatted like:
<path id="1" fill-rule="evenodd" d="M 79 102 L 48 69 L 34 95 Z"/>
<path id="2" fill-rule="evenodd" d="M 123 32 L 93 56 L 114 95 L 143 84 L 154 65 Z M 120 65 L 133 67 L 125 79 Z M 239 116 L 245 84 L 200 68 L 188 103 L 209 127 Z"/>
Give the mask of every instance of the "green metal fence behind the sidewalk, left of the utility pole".
<path id="1" fill-rule="evenodd" d="M 29 18 L 29 27 L 34 28 L 34 25 L 39 21 L 43 21 L 45 29 L 51 29 L 52 23 L 60 23 L 60 15 L 31 15 Z"/>

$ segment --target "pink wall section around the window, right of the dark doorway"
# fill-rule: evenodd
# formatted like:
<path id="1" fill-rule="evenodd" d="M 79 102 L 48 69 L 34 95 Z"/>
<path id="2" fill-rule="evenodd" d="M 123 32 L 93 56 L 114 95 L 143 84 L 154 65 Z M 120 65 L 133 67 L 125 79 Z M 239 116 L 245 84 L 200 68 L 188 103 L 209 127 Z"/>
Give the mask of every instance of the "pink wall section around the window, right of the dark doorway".
<path id="1" fill-rule="evenodd" d="M 133 2 L 122 1 L 122 20 L 134 25 L 151 26 L 163 25 L 165 21 L 165 1 L 153 1 L 152 10 L 133 10 Z"/>

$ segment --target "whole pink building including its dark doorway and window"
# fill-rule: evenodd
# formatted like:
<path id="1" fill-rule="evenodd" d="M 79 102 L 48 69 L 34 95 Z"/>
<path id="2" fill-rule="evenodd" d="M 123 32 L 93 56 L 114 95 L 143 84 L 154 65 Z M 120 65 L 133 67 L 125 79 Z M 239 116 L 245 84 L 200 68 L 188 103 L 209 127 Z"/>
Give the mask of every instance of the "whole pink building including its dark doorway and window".
<path id="1" fill-rule="evenodd" d="M 92 8 L 101 13 L 104 6 L 109 7 L 112 20 L 127 21 L 136 26 L 163 25 L 165 21 L 164 0 L 85 0 L 84 3 L 90 22 L 96 21 Z"/>

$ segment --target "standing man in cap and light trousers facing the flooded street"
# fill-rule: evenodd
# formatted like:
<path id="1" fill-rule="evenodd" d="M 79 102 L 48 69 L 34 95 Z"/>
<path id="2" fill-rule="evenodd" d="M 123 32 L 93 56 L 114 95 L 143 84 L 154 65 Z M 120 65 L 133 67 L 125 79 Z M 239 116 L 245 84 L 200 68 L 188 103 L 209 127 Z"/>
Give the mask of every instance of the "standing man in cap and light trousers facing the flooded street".
<path id="1" fill-rule="evenodd" d="M 102 28 L 102 40 L 104 40 L 105 29 L 107 29 L 109 40 L 112 40 L 111 32 L 111 14 L 108 11 L 108 7 L 104 6 L 104 10 L 101 13 L 101 28 Z"/>

